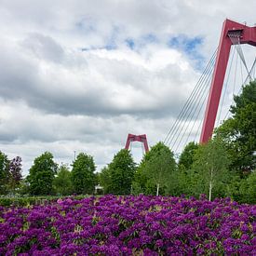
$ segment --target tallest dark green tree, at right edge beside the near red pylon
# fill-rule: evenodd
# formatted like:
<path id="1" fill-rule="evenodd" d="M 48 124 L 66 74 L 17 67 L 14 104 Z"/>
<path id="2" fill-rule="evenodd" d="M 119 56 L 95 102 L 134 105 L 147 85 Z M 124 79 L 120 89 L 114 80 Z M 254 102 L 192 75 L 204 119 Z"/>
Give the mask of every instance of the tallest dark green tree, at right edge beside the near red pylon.
<path id="1" fill-rule="evenodd" d="M 217 128 L 215 134 L 222 138 L 230 157 L 230 169 L 241 177 L 256 169 L 256 81 L 243 87 L 242 93 L 234 97 L 232 117 Z"/>

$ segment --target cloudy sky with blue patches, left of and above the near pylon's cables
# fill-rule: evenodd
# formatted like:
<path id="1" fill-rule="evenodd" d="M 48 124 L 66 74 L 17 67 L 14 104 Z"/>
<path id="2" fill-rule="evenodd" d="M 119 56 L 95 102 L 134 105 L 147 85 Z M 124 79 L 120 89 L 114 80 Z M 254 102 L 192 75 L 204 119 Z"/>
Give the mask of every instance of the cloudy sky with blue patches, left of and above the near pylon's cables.
<path id="1" fill-rule="evenodd" d="M 51 152 L 98 169 L 128 133 L 163 141 L 218 46 L 255 0 L 0 0 L 0 150 L 23 174 Z M 141 145 L 132 153 L 140 160 Z"/>

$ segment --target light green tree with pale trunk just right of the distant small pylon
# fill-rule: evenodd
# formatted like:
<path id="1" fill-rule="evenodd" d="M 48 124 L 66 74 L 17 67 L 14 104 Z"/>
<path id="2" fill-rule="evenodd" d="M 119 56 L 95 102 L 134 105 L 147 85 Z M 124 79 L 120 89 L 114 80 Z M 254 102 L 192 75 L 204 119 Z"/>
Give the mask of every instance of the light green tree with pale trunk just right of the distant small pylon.
<path id="1" fill-rule="evenodd" d="M 167 191 L 169 187 L 174 185 L 175 181 L 171 179 L 171 176 L 175 169 L 176 163 L 173 153 L 163 142 L 158 142 L 141 160 L 133 182 L 135 194 L 156 193 L 159 195 L 160 189 L 162 189 L 161 193 L 164 190 Z"/>

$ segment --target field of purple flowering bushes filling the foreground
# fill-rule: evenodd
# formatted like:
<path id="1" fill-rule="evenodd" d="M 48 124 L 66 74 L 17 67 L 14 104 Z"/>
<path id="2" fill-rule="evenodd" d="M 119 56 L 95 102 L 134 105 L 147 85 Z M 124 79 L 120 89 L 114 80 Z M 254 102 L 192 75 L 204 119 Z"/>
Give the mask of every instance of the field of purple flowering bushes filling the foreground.
<path id="1" fill-rule="evenodd" d="M 0 255 L 256 255 L 256 206 L 229 198 L 68 198 L 0 209 Z"/>

